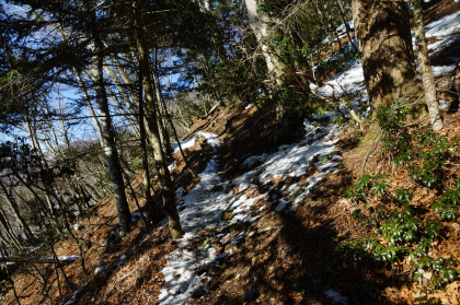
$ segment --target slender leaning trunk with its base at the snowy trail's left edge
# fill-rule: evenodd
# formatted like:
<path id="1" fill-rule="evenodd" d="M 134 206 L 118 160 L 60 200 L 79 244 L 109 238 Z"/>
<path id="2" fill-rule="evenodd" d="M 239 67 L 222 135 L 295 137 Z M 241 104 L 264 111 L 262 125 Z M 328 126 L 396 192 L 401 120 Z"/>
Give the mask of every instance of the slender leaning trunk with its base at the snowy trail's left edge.
<path id="1" fill-rule="evenodd" d="M 146 95 L 146 116 L 147 124 L 149 125 L 150 143 L 153 146 L 153 157 L 157 163 L 159 172 L 159 183 L 161 187 L 161 196 L 163 199 L 163 209 L 166 213 L 168 221 L 170 224 L 170 231 L 173 238 L 180 238 L 184 235 L 181 222 L 179 219 L 177 209 L 175 206 L 175 189 L 171 180 L 170 172 L 166 165 L 165 153 L 160 142 L 160 131 L 158 128 L 157 120 L 157 106 L 156 95 L 152 82 L 152 71 L 149 64 L 149 57 L 147 54 L 146 39 L 143 37 L 143 28 L 141 24 L 141 10 L 138 1 L 134 2 L 134 10 L 136 12 L 135 17 L 135 32 L 136 32 L 136 44 L 138 52 L 139 71 L 141 75 L 142 86 Z"/>

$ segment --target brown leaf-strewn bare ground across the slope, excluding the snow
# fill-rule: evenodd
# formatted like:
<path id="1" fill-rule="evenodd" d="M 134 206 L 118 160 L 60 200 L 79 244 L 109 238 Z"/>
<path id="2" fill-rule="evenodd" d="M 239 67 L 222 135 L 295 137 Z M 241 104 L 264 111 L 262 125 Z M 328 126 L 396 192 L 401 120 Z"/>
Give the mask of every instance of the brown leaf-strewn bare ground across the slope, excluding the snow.
<path id="1" fill-rule="evenodd" d="M 458 5 L 436 4 L 426 17 L 439 17 L 453 9 L 458 10 Z M 433 13 L 435 9 L 437 11 Z M 458 95 L 451 98 L 448 102 L 455 102 Z M 449 139 L 459 138 L 460 114 L 446 114 L 445 119 L 446 128 L 440 133 Z M 427 118 L 424 117 L 409 128 L 417 129 L 426 124 Z M 243 162 L 246 157 L 277 149 L 279 143 L 274 142 L 273 127 L 273 116 L 257 110 L 255 106 L 249 109 L 220 109 L 196 122 L 185 139 L 197 131 L 220 134 L 222 145 L 217 151 L 219 169 L 222 178 L 230 179 L 244 173 Z M 359 144 L 358 140 L 356 130 L 341 136 L 337 144 L 343 156 L 341 169 L 327 175 L 295 213 L 276 212 L 271 201 L 276 198 L 276 189 L 306 179 L 312 173 L 306 173 L 304 177 L 297 179 L 271 181 L 269 186 L 275 186 L 275 190 L 253 208 L 254 213 L 261 213 L 260 219 L 245 224 L 248 234 L 237 245 L 229 246 L 233 254 L 220 267 L 207 270 L 211 275 L 207 291 L 197 293 L 195 300 L 189 301 L 191 304 L 333 304 L 332 298 L 324 294 L 329 289 L 347 296 L 349 304 L 414 304 L 415 297 L 422 295 L 421 286 L 411 280 L 407 266 L 401 263 L 381 268 L 371 262 L 357 262 L 336 248 L 341 241 L 369 231 L 368 226 L 358 224 L 350 216 L 354 207 L 343 197 L 344 190 L 360 175 L 363 161 L 371 145 L 370 142 Z M 207 145 L 186 150 L 191 167 L 197 174 L 204 171 L 212 154 Z M 184 169 L 185 162 L 180 153 L 174 159 L 174 181 L 176 187 L 183 187 L 187 192 L 199 178 L 194 178 Z M 449 164 L 448 181 L 459 177 L 458 163 Z M 366 168 L 391 174 L 389 184 L 393 189 L 415 187 L 405 169 L 394 168 L 378 150 L 368 159 Z M 143 208 L 140 177 L 134 179 L 133 185 Z M 253 196 L 264 193 L 268 185 L 260 185 Z M 423 207 L 437 196 L 435 191 L 419 191 L 415 193 L 414 201 Z M 156 200 L 158 202 L 158 198 Z M 133 195 L 129 196 L 129 204 L 131 211 L 138 210 Z M 166 256 L 176 246 L 168 226 L 147 227 L 142 220 L 138 220 L 123 242 L 107 242 L 107 236 L 117 225 L 115 203 L 111 196 L 79 221 L 81 230 L 78 234 L 84 243 L 88 274 L 83 274 L 80 260 L 64 266 L 72 285 L 69 288 L 60 271 L 56 277 L 54 265 L 36 265 L 35 271 L 31 271 L 31 266 L 23 266 L 13 277 L 21 304 L 41 304 L 47 298 L 53 303 L 64 302 L 80 285 L 82 289 L 71 304 L 157 304 L 163 284 L 161 269 L 165 266 Z M 460 261 L 460 242 L 455 226 L 446 227 L 442 236 L 434 247 L 435 255 L 451 256 Z M 78 255 L 76 243 L 71 239 L 64 239 L 55 247 L 58 255 Z M 120 259 L 123 256 L 124 260 Z M 103 270 L 95 273 L 96 268 Z M 458 266 L 456 268 L 460 271 Z M 47 279 L 46 290 L 43 290 L 44 284 L 37 272 Z M 442 304 L 460 304 L 459 281 L 429 296 L 441 300 Z M 9 290 L 0 295 L 0 301 L 15 304 L 13 292 Z"/>

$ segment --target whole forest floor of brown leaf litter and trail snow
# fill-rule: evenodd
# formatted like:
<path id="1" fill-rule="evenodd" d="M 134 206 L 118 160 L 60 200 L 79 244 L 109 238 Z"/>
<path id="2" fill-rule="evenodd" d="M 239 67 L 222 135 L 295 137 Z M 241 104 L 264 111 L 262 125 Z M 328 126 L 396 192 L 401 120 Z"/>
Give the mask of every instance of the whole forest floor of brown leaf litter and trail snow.
<path id="1" fill-rule="evenodd" d="M 445 3 L 437 13 L 428 12 L 429 21 L 459 10 Z M 458 62 L 459 33 L 432 38 L 447 45 L 434 50 L 434 66 Z M 439 98 L 449 106 L 439 134 L 460 139 L 459 93 L 451 90 L 455 70 L 449 69 L 437 70 Z M 355 81 L 363 86 L 363 80 Z M 426 125 L 428 118 L 422 117 L 410 128 Z M 184 171 L 180 153 L 170 167 L 185 237 L 172 241 L 164 221 L 146 225 L 141 179 L 134 179 L 138 204 L 128 191 L 134 224 L 127 236 L 113 241 L 115 203 L 112 196 L 103 199 L 74 225 L 87 274 L 80 259 L 61 266 L 70 285 L 54 265 L 38 265 L 35 271 L 23 266 L 14 275 L 21 304 L 414 304 L 425 296 L 407 266 L 359 262 L 337 249 L 342 241 L 369 231 L 352 218 L 354 207 L 344 191 L 360 176 L 371 141 L 360 142 L 357 128 L 331 124 L 327 114 L 306 120 L 306 136 L 296 143 L 280 145 L 274 128 L 273 116 L 254 105 L 218 109 L 196 122 L 184 144 L 198 176 Z M 413 185 L 378 150 L 366 168 L 390 174 L 393 189 Z M 458 178 L 459 169 L 451 164 L 449 179 Z M 426 206 L 438 196 L 419 189 L 415 200 Z M 455 226 L 446 225 L 433 251 L 460 262 L 459 243 Z M 71 239 L 57 243 L 56 251 L 78 255 Z M 460 282 L 427 296 L 460 304 Z M 0 301 L 15 304 L 13 292 Z"/>

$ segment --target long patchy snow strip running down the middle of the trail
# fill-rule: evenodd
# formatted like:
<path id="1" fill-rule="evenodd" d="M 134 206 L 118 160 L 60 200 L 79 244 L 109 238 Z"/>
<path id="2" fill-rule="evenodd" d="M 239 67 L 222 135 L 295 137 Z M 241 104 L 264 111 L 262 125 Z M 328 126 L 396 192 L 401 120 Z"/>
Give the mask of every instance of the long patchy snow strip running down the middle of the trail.
<path id="1" fill-rule="evenodd" d="M 304 126 L 308 134 L 302 142 L 281 145 L 278 152 L 271 155 L 263 154 L 248 159 L 246 165 L 253 166 L 254 162 L 262 163 L 262 165 L 231 183 L 226 184 L 220 180 L 217 157 L 214 156 L 199 175 L 199 184 L 184 197 L 181 197 L 182 192 L 177 193 L 181 199 L 177 210 L 186 233 L 180 241 L 179 247 L 168 257 L 168 265 L 162 270 L 164 285 L 159 296 L 160 304 L 184 304 L 194 292 L 205 289 L 206 272 L 203 270 L 218 265 L 219 260 L 229 253 L 218 256 L 211 245 L 211 239 L 199 235 L 200 231 L 206 228 L 207 231 L 223 232 L 225 227 L 237 222 L 254 222 L 258 215 L 251 215 L 250 209 L 257 199 L 265 197 L 262 195 L 249 198 L 256 189 L 254 184 L 256 180 L 265 184 L 276 177 L 302 176 L 312 165 L 319 173 L 308 180 L 309 184 L 303 190 L 303 193 L 307 195 L 309 187 L 314 186 L 326 173 L 335 171 L 340 156 L 334 155 L 336 141 L 332 138 L 340 132 L 338 128 L 336 126 L 313 127 L 308 120 Z M 322 161 L 312 164 L 315 156 Z M 231 190 L 226 191 L 225 189 Z M 233 189 L 238 189 L 238 192 L 234 193 Z M 251 191 L 251 189 L 253 190 Z M 296 208 L 295 203 L 283 197 L 273 204 L 276 206 L 275 209 L 278 212 L 289 206 L 292 210 Z M 231 220 L 222 221 L 223 212 L 231 213 Z M 245 234 L 245 231 L 241 231 L 234 237 L 231 237 L 230 233 L 221 234 L 220 243 L 223 246 L 238 243 Z M 200 247 L 192 246 L 195 238 L 205 242 Z"/>

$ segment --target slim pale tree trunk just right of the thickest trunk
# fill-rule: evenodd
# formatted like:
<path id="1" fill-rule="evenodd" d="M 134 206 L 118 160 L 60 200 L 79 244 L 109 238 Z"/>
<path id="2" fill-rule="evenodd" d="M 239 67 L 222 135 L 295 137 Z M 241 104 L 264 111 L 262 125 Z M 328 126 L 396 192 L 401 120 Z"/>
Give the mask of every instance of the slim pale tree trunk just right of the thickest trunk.
<path id="1" fill-rule="evenodd" d="M 417 45 L 418 66 L 422 71 L 423 86 L 425 87 L 425 99 L 428 106 L 429 121 L 433 130 L 442 129 L 442 118 L 439 114 L 439 104 L 436 97 L 435 75 L 433 74 L 432 62 L 428 57 L 428 45 L 423 26 L 423 8 L 421 0 L 414 0 L 414 24 L 415 44 Z"/>

